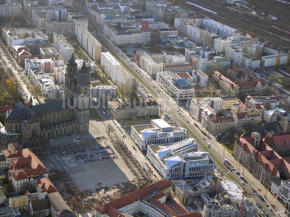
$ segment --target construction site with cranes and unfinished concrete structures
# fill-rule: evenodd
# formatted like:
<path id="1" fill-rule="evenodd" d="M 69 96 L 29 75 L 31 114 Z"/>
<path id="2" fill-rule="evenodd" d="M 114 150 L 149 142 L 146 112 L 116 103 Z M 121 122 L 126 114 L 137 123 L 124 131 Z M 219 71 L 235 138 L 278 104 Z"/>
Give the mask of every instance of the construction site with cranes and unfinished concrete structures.
<path id="1" fill-rule="evenodd" d="M 257 216 L 257 207 L 244 190 L 224 178 L 222 172 L 208 174 L 202 180 L 172 180 L 172 190 L 189 211 L 197 211 L 202 217 Z"/>

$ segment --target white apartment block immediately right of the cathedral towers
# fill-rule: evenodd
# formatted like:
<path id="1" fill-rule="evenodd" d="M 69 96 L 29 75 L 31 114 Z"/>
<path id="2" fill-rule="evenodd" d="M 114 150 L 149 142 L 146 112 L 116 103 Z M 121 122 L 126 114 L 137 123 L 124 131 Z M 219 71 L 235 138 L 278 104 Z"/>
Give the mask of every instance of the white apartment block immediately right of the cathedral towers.
<path id="1" fill-rule="evenodd" d="M 90 86 L 90 99 L 112 100 L 117 97 L 117 86 L 96 85 Z"/>

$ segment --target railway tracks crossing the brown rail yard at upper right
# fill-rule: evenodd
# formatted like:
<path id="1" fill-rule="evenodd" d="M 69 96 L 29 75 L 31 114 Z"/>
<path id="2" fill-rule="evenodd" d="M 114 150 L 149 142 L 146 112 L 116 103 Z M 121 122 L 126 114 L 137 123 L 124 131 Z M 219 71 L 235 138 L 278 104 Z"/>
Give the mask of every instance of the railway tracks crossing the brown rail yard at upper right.
<path id="1" fill-rule="evenodd" d="M 185 3 L 182 0 L 175 0 L 175 3 L 177 2 L 188 8 L 193 8 L 194 11 L 200 12 L 201 14 L 204 14 L 209 18 L 212 18 L 224 24 L 230 25 L 233 28 L 239 29 L 242 24 L 245 28 L 251 29 L 251 31 L 253 32 L 260 32 L 260 35 L 263 34 L 265 36 L 268 36 L 270 39 L 272 39 L 273 41 L 278 41 L 283 46 L 285 46 L 286 44 L 289 44 L 290 42 L 290 37 L 288 37 L 284 33 L 277 32 L 271 29 L 270 26 L 261 24 L 258 21 L 255 22 L 254 17 L 253 19 L 245 17 L 244 14 L 240 12 L 237 12 L 237 11 L 233 12 L 231 10 L 224 10 L 224 7 L 212 7 L 209 4 L 206 5 L 205 3 L 194 2 L 202 7 L 218 12 L 218 14 L 212 14 L 200 8 L 194 7 L 188 3 Z M 288 49 L 289 49 L 289 45 L 288 45 Z"/>

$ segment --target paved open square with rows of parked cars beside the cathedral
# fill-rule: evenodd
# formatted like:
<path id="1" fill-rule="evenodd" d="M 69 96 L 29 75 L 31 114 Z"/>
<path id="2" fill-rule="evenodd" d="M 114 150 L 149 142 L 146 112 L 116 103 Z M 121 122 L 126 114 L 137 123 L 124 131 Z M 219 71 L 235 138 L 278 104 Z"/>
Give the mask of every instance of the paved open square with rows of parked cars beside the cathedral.
<path id="1" fill-rule="evenodd" d="M 135 176 L 111 144 L 105 133 L 106 125 L 107 121 L 90 120 L 90 133 L 53 139 L 50 143 L 53 151 L 43 160 L 44 165 L 48 170 L 65 169 L 83 190 L 95 191 L 100 185 L 132 181 Z M 75 138 L 81 138 L 81 142 L 66 147 L 65 153 L 57 150 L 61 144 L 72 143 Z"/>

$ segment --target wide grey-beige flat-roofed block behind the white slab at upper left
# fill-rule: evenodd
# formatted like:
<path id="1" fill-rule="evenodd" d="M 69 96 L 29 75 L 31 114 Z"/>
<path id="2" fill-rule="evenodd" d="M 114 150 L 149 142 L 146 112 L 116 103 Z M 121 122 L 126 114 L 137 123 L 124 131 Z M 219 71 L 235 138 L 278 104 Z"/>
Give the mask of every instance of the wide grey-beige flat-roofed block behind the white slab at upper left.
<path id="1" fill-rule="evenodd" d="M 75 21 L 45 21 L 45 31 L 49 34 L 54 33 L 74 33 Z"/>

